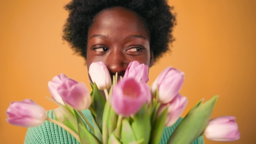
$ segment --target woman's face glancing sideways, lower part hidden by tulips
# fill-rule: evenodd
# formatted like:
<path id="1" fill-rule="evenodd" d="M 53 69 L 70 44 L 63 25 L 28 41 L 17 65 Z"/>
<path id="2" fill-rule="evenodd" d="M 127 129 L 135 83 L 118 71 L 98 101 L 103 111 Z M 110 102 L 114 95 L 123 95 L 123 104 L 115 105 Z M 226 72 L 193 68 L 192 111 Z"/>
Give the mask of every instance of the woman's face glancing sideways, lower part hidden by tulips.
<path id="1" fill-rule="evenodd" d="M 87 67 L 103 61 L 111 75 L 123 76 L 131 61 L 150 66 L 150 33 L 139 16 L 122 7 L 105 9 L 88 31 Z M 150 62 L 151 61 L 151 62 Z"/>

